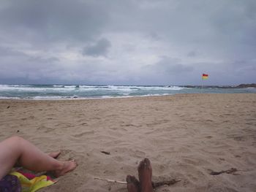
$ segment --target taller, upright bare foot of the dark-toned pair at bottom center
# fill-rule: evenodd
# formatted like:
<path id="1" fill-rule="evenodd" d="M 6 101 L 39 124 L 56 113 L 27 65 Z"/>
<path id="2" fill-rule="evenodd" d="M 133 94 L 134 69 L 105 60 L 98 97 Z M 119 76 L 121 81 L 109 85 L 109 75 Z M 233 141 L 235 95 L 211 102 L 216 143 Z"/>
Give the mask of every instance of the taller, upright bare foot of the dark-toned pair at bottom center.
<path id="1" fill-rule="evenodd" d="M 138 166 L 139 180 L 140 180 L 140 191 L 141 192 L 152 192 L 152 167 L 148 158 L 144 158 L 140 161 Z"/>

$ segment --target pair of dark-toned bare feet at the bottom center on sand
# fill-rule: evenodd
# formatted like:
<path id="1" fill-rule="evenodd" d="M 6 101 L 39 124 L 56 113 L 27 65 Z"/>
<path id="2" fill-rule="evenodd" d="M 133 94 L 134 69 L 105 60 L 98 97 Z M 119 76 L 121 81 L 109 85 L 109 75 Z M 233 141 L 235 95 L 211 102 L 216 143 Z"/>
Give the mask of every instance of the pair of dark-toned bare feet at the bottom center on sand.
<path id="1" fill-rule="evenodd" d="M 148 158 L 140 161 L 138 166 L 139 181 L 136 177 L 127 175 L 128 192 L 153 192 L 152 187 L 152 167 Z"/>

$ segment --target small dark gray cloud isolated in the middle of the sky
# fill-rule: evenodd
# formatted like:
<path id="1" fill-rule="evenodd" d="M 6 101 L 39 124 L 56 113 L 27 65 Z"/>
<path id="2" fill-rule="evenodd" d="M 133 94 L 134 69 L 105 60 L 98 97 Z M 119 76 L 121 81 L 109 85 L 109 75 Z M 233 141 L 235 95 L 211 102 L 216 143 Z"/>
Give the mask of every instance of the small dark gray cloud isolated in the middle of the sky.
<path id="1" fill-rule="evenodd" d="M 94 45 L 90 45 L 83 48 L 83 55 L 91 55 L 94 57 L 103 55 L 106 56 L 108 49 L 111 47 L 108 39 L 99 39 Z"/>

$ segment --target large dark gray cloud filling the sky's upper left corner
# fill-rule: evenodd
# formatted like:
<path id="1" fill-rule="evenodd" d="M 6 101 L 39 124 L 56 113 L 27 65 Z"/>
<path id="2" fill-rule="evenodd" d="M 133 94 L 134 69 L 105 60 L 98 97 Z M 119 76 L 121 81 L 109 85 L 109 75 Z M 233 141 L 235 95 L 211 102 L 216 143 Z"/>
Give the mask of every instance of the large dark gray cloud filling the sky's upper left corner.
<path id="1" fill-rule="evenodd" d="M 68 0 L 6 1 L 0 11 L 1 31 L 37 43 L 89 41 L 100 34 L 108 21 L 104 4 Z"/>

